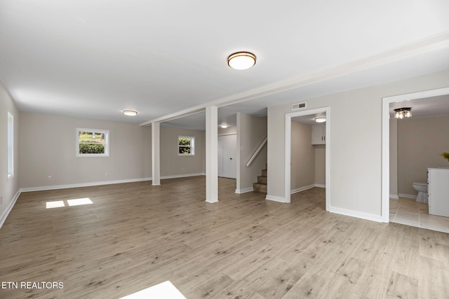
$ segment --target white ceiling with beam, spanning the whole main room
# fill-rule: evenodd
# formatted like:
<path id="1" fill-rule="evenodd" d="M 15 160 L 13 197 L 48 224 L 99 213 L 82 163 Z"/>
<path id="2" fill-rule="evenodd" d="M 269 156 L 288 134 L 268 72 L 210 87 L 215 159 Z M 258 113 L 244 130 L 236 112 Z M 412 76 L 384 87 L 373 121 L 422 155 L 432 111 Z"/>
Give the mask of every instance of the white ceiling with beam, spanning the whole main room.
<path id="1" fill-rule="evenodd" d="M 448 11 L 447 0 L 1 0 L 0 81 L 20 111 L 200 128 L 203 113 L 174 118 L 212 103 L 224 123 L 449 69 Z M 255 67 L 227 66 L 239 50 Z"/>

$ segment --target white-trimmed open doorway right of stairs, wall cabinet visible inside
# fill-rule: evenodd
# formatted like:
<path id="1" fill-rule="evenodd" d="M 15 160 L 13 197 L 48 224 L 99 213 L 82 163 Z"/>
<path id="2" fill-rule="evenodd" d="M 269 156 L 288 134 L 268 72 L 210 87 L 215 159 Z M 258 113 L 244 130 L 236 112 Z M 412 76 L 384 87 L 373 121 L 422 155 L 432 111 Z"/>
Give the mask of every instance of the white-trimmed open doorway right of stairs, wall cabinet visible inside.
<path id="1" fill-rule="evenodd" d="M 317 123 L 316 118 L 326 119 Z M 326 199 L 329 207 L 330 109 L 311 109 L 286 114 L 286 202 L 302 194 Z M 324 195 L 324 196 L 323 196 Z"/>

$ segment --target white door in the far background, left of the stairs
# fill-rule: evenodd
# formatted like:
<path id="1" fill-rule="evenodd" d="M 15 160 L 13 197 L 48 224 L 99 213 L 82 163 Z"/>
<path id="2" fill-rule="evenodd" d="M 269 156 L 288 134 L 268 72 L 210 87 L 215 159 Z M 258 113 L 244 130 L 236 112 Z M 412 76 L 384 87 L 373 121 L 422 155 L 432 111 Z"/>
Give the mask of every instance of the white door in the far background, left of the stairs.
<path id="1" fill-rule="evenodd" d="M 236 179 L 237 135 L 218 137 L 218 176 Z"/>

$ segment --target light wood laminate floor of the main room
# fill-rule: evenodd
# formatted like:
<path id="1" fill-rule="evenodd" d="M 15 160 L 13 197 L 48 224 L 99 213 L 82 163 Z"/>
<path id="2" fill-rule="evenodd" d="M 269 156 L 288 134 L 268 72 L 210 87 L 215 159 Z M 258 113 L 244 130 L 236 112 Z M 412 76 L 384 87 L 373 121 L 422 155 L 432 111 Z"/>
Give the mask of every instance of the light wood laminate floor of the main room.
<path id="1" fill-rule="evenodd" d="M 448 234 L 328 213 L 322 188 L 282 204 L 219 186 L 215 204 L 204 176 L 22 193 L 0 281 L 63 288 L 0 298 L 120 298 L 167 280 L 189 299 L 449 297 Z"/>

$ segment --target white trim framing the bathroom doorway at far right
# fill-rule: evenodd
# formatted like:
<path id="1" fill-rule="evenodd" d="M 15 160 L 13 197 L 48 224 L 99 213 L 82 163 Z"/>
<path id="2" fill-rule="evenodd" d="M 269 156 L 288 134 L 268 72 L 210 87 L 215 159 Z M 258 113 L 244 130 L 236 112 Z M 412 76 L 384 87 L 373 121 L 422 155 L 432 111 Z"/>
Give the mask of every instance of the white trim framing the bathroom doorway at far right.
<path id="1" fill-rule="evenodd" d="M 449 95 L 449 87 L 382 98 L 382 222 L 389 222 L 390 209 L 390 104 L 410 99 L 436 97 L 438 95 Z"/>

